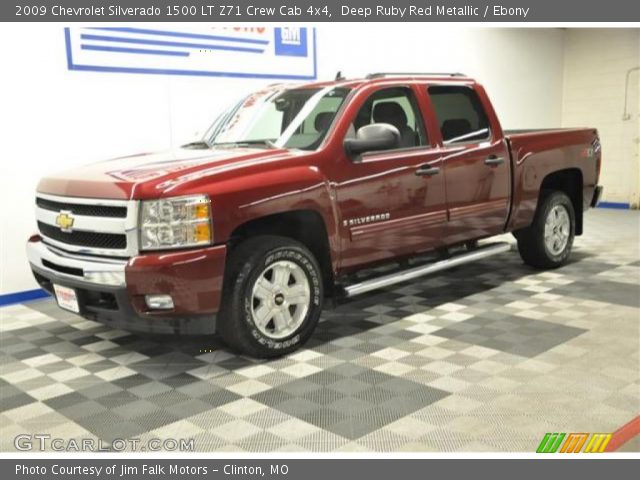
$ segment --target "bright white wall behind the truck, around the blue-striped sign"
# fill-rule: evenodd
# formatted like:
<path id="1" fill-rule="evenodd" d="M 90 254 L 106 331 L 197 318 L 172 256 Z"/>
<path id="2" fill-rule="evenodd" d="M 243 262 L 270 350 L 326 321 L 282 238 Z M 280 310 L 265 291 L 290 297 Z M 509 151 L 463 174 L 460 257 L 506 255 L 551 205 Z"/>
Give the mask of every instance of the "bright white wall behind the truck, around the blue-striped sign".
<path id="1" fill-rule="evenodd" d="M 24 243 L 35 231 L 32 205 L 41 176 L 180 145 L 233 98 L 271 83 L 68 71 L 63 27 L 0 29 L 0 294 L 36 287 Z M 338 70 L 348 77 L 461 71 L 487 87 L 506 128 L 555 127 L 563 36 L 558 29 L 319 24 L 319 77 L 333 78 Z"/>

